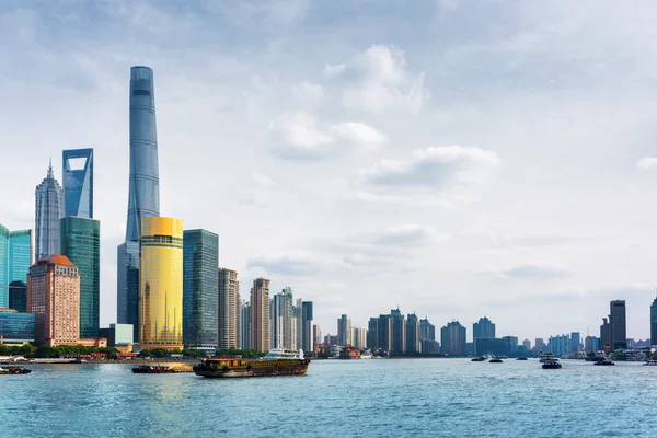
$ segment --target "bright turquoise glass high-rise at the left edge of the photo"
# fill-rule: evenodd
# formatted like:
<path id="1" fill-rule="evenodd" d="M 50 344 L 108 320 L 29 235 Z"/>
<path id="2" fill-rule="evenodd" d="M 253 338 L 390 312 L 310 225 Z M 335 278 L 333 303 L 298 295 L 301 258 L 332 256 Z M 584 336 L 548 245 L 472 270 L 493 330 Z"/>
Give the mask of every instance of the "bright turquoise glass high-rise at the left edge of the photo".
<path id="1" fill-rule="evenodd" d="M 15 309 L 10 303 L 10 291 L 16 302 L 24 302 L 25 298 L 21 297 L 25 297 L 27 290 L 26 286 L 21 287 L 25 285 L 31 265 L 32 230 L 9 231 L 0 224 L 0 308 Z M 16 310 L 25 312 L 25 309 Z"/>

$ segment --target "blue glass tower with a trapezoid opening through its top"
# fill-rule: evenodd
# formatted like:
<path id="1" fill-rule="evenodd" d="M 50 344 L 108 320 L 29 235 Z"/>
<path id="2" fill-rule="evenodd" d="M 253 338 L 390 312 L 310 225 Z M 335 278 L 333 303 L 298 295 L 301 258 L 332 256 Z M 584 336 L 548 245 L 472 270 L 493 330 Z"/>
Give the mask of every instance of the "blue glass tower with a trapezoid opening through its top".
<path id="1" fill-rule="evenodd" d="M 61 153 L 64 216 L 93 218 L 93 149 Z"/>

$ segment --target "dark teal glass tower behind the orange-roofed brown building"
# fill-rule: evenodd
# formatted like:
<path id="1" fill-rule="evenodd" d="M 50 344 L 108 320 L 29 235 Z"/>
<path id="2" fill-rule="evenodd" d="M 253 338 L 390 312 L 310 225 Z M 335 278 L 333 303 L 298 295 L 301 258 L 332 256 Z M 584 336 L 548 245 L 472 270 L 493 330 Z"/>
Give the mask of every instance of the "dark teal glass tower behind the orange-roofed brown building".
<path id="1" fill-rule="evenodd" d="M 67 217 L 60 222 L 61 255 L 80 273 L 80 337 L 96 337 L 101 301 L 101 222 Z"/>

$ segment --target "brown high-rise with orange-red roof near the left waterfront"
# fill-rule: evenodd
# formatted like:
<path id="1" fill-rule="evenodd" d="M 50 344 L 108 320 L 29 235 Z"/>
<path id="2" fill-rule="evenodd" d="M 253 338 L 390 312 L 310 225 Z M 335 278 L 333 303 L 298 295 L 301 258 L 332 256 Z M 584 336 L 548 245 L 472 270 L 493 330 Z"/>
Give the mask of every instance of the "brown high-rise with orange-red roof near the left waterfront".
<path id="1" fill-rule="evenodd" d="M 39 258 L 27 275 L 34 341 L 50 347 L 80 341 L 80 273 L 64 255 Z"/>

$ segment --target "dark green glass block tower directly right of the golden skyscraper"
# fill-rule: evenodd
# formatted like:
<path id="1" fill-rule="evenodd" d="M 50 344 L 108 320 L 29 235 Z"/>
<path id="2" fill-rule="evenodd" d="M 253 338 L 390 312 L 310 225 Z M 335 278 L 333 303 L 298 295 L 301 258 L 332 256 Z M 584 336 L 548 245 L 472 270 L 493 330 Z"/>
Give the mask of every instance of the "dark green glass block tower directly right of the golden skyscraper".
<path id="1" fill-rule="evenodd" d="M 205 350 L 217 348 L 218 268 L 219 237 L 206 230 L 185 230 L 183 232 L 183 343 L 185 348 Z"/>

